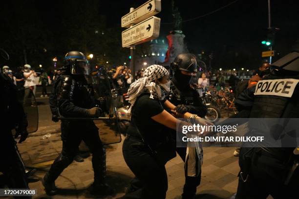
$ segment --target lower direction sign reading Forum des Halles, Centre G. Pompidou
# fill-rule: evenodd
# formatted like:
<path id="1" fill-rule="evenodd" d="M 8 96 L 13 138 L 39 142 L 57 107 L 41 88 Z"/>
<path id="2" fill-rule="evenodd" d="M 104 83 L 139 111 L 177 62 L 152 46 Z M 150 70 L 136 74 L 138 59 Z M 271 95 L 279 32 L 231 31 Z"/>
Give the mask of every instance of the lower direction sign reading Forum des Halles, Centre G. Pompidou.
<path id="1" fill-rule="evenodd" d="M 122 45 L 127 47 L 159 37 L 160 18 L 151 17 L 122 32 Z"/>

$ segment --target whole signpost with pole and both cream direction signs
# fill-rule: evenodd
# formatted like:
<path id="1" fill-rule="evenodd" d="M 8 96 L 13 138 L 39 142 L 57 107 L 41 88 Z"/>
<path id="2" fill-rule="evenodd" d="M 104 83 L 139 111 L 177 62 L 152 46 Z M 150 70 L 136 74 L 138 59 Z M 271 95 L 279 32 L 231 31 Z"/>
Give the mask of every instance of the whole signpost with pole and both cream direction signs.
<path id="1" fill-rule="evenodd" d="M 130 12 L 122 17 L 122 46 L 130 48 L 130 68 L 135 79 L 135 45 L 159 37 L 160 18 L 153 17 L 161 11 L 161 0 L 149 0 L 138 8 L 130 8 Z M 136 24 L 136 25 L 134 25 Z"/>

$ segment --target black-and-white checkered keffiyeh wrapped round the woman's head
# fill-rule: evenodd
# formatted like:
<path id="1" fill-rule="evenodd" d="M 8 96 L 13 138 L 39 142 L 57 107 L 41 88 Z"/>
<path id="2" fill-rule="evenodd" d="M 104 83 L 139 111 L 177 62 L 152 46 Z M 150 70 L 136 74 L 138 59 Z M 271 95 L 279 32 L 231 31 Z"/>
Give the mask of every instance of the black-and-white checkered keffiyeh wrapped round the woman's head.
<path id="1" fill-rule="evenodd" d="M 131 112 L 131 109 L 137 97 L 144 91 L 149 91 L 149 98 L 151 99 L 163 100 L 164 96 L 162 95 L 161 87 L 160 85 L 156 84 L 154 80 L 162 78 L 166 75 L 169 75 L 166 68 L 164 68 L 161 65 L 153 64 L 145 69 L 143 78 L 140 78 L 131 83 L 130 88 L 128 89 L 128 100 L 131 104 L 131 107 L 129 108 L 129 113 Z M 169 88 L 163 85 L 161 86 L 163 87 L 163 89 L 169 92 Z"/>

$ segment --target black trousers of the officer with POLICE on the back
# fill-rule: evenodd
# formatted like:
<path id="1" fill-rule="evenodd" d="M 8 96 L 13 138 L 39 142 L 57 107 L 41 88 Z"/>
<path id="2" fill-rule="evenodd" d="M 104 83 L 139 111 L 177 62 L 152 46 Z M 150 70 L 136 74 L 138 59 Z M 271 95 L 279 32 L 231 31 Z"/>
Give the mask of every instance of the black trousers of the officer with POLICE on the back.
<path id="1" fill-rule="evenodd" d="M 245 182 L 247 175 L 244 174 L 242 179 L 240 174 L 235 199 L 266 199 L 269 195 L 274 199 L 298 198 L 299 186 L 295 190 L 295 187 L 292 188 L 284 184 L 288 173 L 286 160 L 252 152 L 251 163 L 248 164 L 243 158 L 248 150 L 248 148 L 241 148 L 240 150 L 239 166 L 241 172 L 247 171 L 246 168 L 249 168 L 249 173 Z"/>

